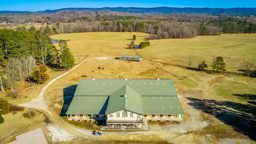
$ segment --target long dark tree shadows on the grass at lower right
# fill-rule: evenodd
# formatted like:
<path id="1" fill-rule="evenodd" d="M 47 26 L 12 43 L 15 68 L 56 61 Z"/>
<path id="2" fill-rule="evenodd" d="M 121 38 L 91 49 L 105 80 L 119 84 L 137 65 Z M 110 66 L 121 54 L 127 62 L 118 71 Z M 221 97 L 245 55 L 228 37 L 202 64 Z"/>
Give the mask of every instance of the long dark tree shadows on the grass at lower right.
<path id="1" fill-rule="evenodd" d="M 228 124 L 237 132 L 256 140 L 256 106 L 252 104 L 240 104 L 229 101 L 200 100 L 188 98 L 188 104 L 197 110 L 215 116 L 225 124 Z"/>

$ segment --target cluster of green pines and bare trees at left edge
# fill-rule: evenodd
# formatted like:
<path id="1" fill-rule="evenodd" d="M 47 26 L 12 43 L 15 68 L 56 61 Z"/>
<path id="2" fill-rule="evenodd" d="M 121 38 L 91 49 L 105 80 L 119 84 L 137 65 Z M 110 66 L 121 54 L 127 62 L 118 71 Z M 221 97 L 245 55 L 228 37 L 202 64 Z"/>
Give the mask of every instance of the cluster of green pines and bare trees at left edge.
<path id="1" fill-rule="evenodd" d="M 0 83 L 13 90 L 13 83 L 33 80 L 44 83 L 49 79 L 47 66 L 68 70 L 74 66 L 74 57 L 65 40 L 60 40 L 60 50 L 52 40 L 35 27 L 0 30 Z M 39 66 L 37 68 L 37 66 Z"/>

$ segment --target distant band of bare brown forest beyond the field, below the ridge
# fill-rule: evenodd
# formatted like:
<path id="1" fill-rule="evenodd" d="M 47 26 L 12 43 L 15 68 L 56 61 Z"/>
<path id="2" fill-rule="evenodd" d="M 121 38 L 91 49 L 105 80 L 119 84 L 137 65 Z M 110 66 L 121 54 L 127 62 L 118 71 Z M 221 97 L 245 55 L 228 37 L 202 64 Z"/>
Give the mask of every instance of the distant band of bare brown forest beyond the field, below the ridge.
<path id="1" fill-rule="evenodd" d="M 51 22 L 40 28 L 43 33 L 146 32 L 148 39 L 192 38 L 222 33 L 256 33 L 256 21 L 250 17 L 206 14 L 138 14 L 114 11 L 63 10 L 56 13 L 0 14 L 0 21 L 24 24 Z M 47 29 L 47 30 L 46 30 Z"/>

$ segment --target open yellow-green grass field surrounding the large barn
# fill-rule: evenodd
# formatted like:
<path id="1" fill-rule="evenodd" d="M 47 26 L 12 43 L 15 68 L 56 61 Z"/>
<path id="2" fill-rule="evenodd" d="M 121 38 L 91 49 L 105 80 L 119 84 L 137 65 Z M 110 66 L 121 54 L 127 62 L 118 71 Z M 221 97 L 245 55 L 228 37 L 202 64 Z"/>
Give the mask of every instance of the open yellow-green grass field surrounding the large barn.
<path id="1" fill-rule="evenodd" d="M 136 32 L 89 32 L 51 36 L 52 39 L 68 40 L 68 47 L 75 56 L 89 55 L 90 60 L 50 85 L 44 94 L 49 110 L 57 115 L 61 112 L 65 113 L 68 108 L 68 98 L 74 94 L 76 84 L 83 78 L 82 75 L 86 75 L 86 78 L 170 78 L 174 80 L 186 114 L 184 122 L 170 126 L 166 124 L 160 126 L 162 128 L 160 130 L 153 125 L 148 134 L 136 136 L 142 140 L 137 139 L 136 143 L 149 142 L 147 140 L 150 140 L 150 136 L 154 137 L 156 143 L 163 139 L 175 144 L 237 143 L 238 141 L 254 143 L 252 140 L 255 140 L 256 133 L 256 89 L 239 82 L 224 80 L 223 74 L 208 74 L 196 68 L 202 60 L 205 60 L 208 70 L 211 70 L 212 59 L 222 56 L 228 72 L 241 73 L 239 70 L 243 62 L 256 60 L 256 34 L 150 40 L 151 46 L 130 50 L 127 49 L 127 44 L 132 42 L 133 34 L 137 36 L 135 44 L 140 44 L 149 36 Z M 58 47 L 58 44 L 55 46 Z M 94 52 L 96 58 L 112 57 L 112 59 L 94 60 Z M 142 55 L 142 62 L 114 59 L 120 54 Z M 194 56 L 192 65 L 194 69 L 187 69 L 186 61 L 189 54 Z M 83 57 L 75 58 L 76 63 L 83 59 Z M 104 69 L 97 69 L 98 67 Z M 250 80 L 256 82 L 255 78 Z M 39 92 L 41 89 L 42 86 L 36 86 L 35 89 L 26 91 L 26 95 L 33 96 L 37 94 L 33 91 Z M 8 100 L 19 103 L 14 98 Z M 20 103 L 22 102 L 24 100 Z M 68 124 L 68 122 L 62 123 Z M 202 127 L 203 124 L 205 125 Z M 164 134 L 165 130 L 168 135 Z M 158 135 L 154 131 L 163 131 L 163 135 Z M 129 136 L 127 135 L 127 139 L 126 136 L 122 138 L 129 141 Z M 111 143 L 111 140 L 117 140 L 112 139 L 114 138 L 112 135 L 106 138 L 109 139 L 99 143 Z"/>

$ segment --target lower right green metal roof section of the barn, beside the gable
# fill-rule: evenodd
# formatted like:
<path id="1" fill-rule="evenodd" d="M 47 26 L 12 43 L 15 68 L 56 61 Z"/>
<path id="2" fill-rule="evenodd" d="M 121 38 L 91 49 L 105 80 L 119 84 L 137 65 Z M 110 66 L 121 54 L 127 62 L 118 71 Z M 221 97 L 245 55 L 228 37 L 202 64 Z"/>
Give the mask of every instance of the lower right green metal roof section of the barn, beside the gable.
<path id="1" fill-rule="evenodd" d="M 184 114 L 178 96 L 142 96 L 144 114 Z"/>

